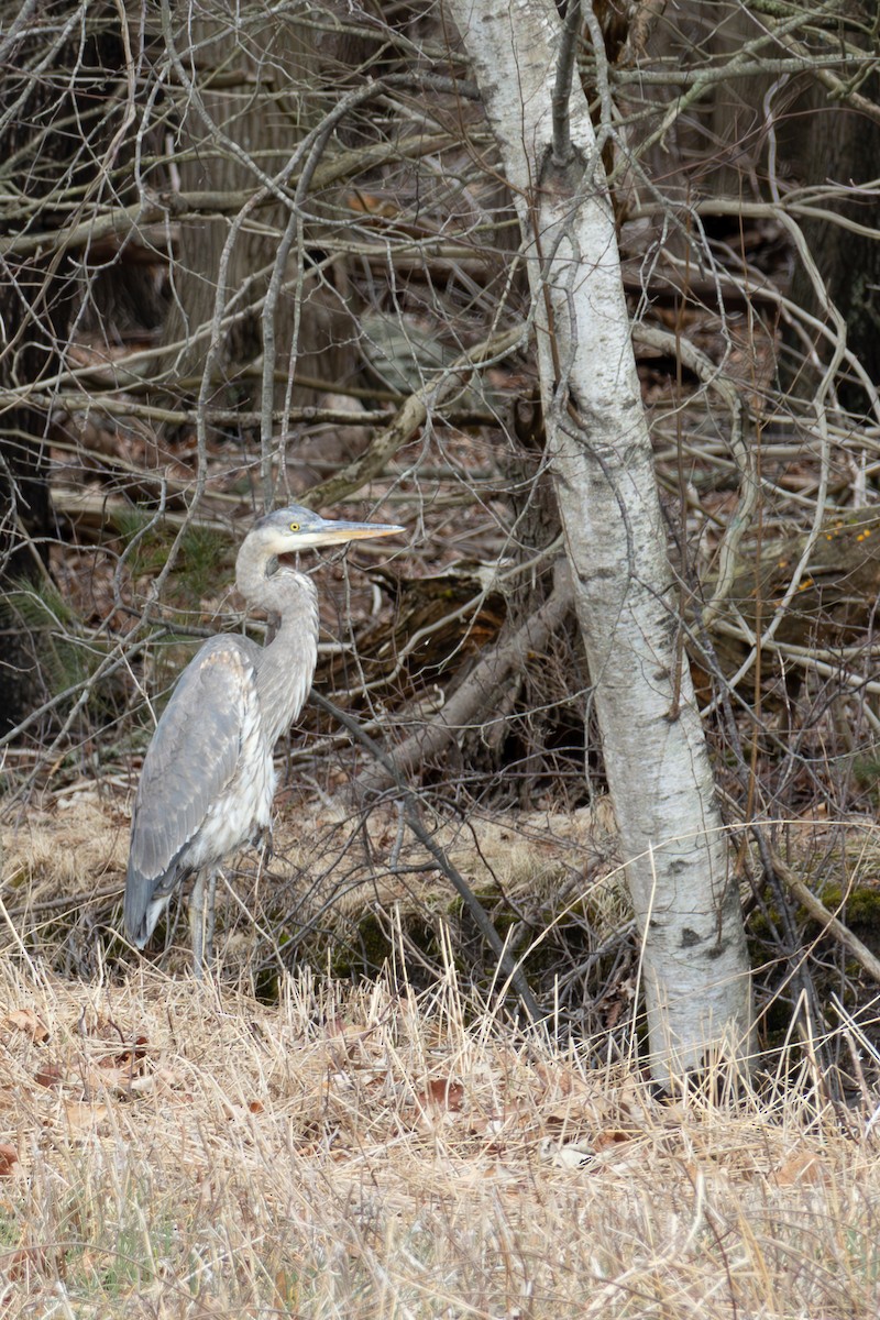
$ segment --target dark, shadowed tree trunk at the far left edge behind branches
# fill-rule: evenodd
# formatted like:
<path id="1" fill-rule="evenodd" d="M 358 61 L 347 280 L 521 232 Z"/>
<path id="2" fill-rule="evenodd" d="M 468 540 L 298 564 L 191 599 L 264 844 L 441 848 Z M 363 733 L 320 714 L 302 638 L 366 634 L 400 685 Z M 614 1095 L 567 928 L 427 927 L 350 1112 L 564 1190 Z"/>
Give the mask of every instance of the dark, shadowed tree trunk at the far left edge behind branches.
<path id="1" fill-rule="evenodd" d="M 120 66 L 119 15 L 94 5 L 86 16 L 62 0 L 0 4 L 3 112 L 0 160 L 9 218 L 0 232 L 51 231 L 67 218 L 54 198 L 75 193 L 94 174 L 94 157 L 112 132 L 112 79 Z M 88 22 L 87 22 L 88 17 Z M 32 69 L 42 61 L 42 73 Z M 77 125 L 77 131 L 71 128 Z M 13 198 L 28 206 L 16 214 Z M 46 198 L 36 209 L 36 198 Z M 38 643 L 9 594 L 38 583 L 53 533 L 49 496 L 49 416 L 29 387 L 62 366 L 78 276 L 69 253 L 4 259 L 0 282 L 0 388 L 7 392 L 0 440 L 0 734 L 46 696 Z M 17 392 L 17 393 L 16 393 Z"/>

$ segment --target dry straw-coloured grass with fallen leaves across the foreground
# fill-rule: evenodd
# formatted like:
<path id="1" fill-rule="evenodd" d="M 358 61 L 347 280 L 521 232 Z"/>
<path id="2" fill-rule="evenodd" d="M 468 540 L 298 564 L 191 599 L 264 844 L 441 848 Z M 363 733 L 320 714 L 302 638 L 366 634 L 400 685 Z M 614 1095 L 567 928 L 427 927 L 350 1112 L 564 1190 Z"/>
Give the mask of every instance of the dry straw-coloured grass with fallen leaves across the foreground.
<path id="1" fill-rule="evenodd" d="M 7 954 L 4 1315 L 876 1316 L 873 1139 L 803 1089 L 664 1104 L 451 973 L 267 1007 Z"/>

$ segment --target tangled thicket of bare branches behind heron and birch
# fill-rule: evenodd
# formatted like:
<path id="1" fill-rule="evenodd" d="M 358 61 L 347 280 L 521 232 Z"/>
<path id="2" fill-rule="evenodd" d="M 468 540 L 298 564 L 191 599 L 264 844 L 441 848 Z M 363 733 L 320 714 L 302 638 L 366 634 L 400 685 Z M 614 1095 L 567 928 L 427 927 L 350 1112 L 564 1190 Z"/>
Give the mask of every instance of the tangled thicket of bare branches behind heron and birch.
<path id="1" fill-rule="evenodd" d="M 0 13 L 11 800 L 129 784 L 149 702 L 236 618 L 241 529 L 292 498 L 412 528 L 327 574 L 321 690 L 449 810 L 595 797 L 519 228 L 442 8 Z M 879 40 L 867 0 L 583 5 L 732 825 L 876 800 Z M 309 718 L 294 764 L 332 792 Z"/>

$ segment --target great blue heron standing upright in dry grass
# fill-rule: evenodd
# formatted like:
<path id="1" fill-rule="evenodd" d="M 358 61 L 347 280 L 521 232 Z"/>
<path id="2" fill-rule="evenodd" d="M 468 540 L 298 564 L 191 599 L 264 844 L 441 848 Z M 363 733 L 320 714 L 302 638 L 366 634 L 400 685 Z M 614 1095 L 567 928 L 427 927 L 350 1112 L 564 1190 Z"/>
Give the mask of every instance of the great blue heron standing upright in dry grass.
<path id="1" fill-rule="evenodd" d="M 211 952 L 219 867 L 269 828 L 274 744 L 302 710 L 318 656 L 314 583 L 278 556 L 402 531 L 332 523 L 290 504 L 245 536 L 236 585 L 249 605 L 280 616 L 278 631 L 267 647 L 230 634 L 206 642 L 156 726 L 137 785 L 125 878 L 125 929 L 140 949 L 178 886 L 195 875 L 190 925 L 199 975 Z"/>

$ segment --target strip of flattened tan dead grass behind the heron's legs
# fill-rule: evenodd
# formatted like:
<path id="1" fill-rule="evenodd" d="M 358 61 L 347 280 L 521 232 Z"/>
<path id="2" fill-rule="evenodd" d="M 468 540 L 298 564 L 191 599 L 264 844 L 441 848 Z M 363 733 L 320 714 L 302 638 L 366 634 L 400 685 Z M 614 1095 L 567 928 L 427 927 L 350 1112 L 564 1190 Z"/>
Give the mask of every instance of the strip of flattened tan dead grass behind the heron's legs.
<path id="1" fill-rule="evenodd" d="M 515 948 L 534 944 L 544 953 L 555 923 L 569 913 L 584 923 L 587 902 L 584 942 L 600 944 L 631 916 L 606 799 L 570 813 L 475 814 L 430 825 L 437 843 L 501 920 L 504 933 L 519 923 Z M 91 975 L 103 956 L 98 945 L 113 945 L 128 832 L 127 799 L 99 793 L 90 781 L 66 796 L 47 793 L 40 807 L 0 821 L 7 925 L 55 969 Z M 460 925 L 462 904 L 435 859 L 402 828 L 393 805 L 361 816 L 314 795 L 294 801 L 288 791 L 273 849 L 268 861 L 245 850 L 240 871 L 231 858 L 230 883 L 219 888 L 216 952 L 227 974 L 249 979 L 260 969 L 273 974 L 294 954 L 322 969 L 330 961 L 338 973 L 376 972 L 394 928 L 412 923 L 422 939 L 410 942 L 409 954 L 422 960 L 433 978 L 441 931 Z M 189 936 L 177 902 L 169 916 L 164 966 L 182 970 Z M 474 952 L 476 957 L 479 950 Z M 120 941 L 111 957 L 125 957 Z"/>

